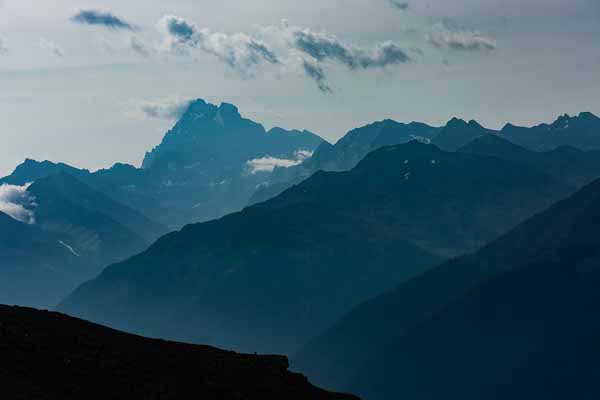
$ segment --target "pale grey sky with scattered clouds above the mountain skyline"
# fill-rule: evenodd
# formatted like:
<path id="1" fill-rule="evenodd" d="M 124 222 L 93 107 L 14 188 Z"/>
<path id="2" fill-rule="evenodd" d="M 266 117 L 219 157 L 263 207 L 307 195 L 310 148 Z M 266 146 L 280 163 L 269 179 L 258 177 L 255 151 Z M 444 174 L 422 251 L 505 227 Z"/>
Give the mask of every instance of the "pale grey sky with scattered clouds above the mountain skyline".
<path id="1" fill-rule="evenodd" d="M 600 0 L 0 0 L 0 175 L 139 165 L 193 98 L 336 141 L 600 114 Z"/>

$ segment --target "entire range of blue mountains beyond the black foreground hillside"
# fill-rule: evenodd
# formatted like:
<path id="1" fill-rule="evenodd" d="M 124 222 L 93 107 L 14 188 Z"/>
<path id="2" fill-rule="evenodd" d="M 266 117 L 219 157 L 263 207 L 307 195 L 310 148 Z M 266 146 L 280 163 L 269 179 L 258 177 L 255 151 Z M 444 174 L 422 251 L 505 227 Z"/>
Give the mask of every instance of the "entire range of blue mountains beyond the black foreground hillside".
<path id="1" fill-rule="evenodd" d="M 91 279 L 58 308 L 151 337 L 295 353 L 294 368 L 365 400 L 596 398 L 599 177 L 591 113 L 499 131 L 385 120 L 332 145 L 197 100 L 141 168 L 26 160 L 0 179 L 0 303 L 51 307 Z M 48 333 L 50 322 L 78 333 Z M 174 390 L 165 371 L 196 365 L 196 351 L 210 360 L 199 364 L 209 398 L 296 398 L 288 384 L 297 398 L 338 398 L 281 358 L 57 314 L 0 307 L 3 337 L 19 368 L 30 357 L 82 371 L 81 387 L 41 369 L 6 375 L 47 398 L 92 393 L 85 377 L 108 376 L 115 359 L 120 394 L 139 397 L 142 378 Z M 40 350 L 41 337 L 57 346 Z M 142 378 L 128 364 L 138 352 Z M 0 379 L 14 371 L 2 362 Z M 253 367 L 266 389 L 236 375 Z"/>

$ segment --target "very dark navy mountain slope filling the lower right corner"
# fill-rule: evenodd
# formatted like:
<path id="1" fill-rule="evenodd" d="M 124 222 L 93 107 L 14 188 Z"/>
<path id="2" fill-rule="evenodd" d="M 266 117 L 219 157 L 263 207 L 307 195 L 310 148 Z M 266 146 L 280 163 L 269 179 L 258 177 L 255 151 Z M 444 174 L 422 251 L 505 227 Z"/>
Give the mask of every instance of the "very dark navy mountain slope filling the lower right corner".
<path id="1" fill-rule="evenodd" d="M 595 181 L 357 307 L 294 366 L 367 400 L 597 398 L 599 218 Z"/>

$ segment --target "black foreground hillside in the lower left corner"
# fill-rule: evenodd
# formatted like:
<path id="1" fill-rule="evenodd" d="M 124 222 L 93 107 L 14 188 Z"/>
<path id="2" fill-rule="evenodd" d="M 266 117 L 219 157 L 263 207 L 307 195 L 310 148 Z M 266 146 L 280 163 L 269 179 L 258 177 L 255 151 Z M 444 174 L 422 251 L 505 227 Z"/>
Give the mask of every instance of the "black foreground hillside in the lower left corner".
<path id="1" fill-rule="evenodd" d="M 58 313 L 0 306 L 3 399 L 355 399 L 281 356 L 146 339 Z"/>

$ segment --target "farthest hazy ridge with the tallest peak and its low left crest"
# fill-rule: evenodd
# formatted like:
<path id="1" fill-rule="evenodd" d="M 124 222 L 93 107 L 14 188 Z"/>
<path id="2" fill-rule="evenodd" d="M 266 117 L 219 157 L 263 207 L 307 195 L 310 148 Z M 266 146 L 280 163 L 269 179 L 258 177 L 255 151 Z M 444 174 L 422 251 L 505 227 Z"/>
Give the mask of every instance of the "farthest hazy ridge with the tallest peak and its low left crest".
<path id="1" fill-rule="evenodd" d="M 125 164 L 90 173 L 66 164 L 26 160 L 1 183 L 24 184 L 66 172 L 170 229 L 241 210 L 275 165 L 300 164 L 324 143 L 308 131 L 265 128 L 237 107 L 192 102 L 146 154 L 142 168 Z"/>

